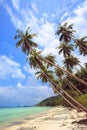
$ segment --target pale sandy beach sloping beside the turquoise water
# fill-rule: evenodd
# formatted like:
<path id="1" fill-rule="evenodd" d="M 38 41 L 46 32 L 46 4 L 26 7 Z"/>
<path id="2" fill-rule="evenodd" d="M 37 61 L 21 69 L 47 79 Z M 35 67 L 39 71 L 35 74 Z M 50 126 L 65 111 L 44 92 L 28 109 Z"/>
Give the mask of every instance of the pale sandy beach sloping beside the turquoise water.
<path id="1" fill-rule="evenodd" d="M 87 125 L 72 124 L 85 118 L 87 118 L 85 112 L 76 112 L 60 106 L 14 122 L 2 130 L 87 130 Z"/>

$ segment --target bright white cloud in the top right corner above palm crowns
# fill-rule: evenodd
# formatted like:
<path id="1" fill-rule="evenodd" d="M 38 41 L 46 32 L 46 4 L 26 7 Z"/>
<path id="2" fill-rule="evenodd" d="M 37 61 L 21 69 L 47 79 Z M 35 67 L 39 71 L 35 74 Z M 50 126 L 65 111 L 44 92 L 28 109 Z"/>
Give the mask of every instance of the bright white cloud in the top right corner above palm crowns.
<path id="1" fill-rule="evenodd" d="M 68 23 L 75 23 L 75 29 L 78 36 L 86 36 L 87 35 L 87 0 L 82 3 L 78 8 L 74 11 L 74 16 L 69 17 L 66 21 Z"/>

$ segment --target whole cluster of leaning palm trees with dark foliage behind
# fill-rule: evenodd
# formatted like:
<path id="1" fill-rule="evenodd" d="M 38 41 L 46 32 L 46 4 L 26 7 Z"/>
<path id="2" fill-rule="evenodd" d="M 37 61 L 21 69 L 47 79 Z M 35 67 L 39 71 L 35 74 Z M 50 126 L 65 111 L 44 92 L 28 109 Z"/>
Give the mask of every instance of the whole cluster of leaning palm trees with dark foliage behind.
<path id="1" fill-rule="evenodd" d="M 37 43 L 33 42 L 33 37 L 37 34 L 30 34 L 29 29 L 30 27 L 25 32 L 17 30 L 14 38 L 18 39 L 16 46 L 21 47 L 26 54 L 31 68 L 36 69 L 37 79 L 48 82 L 54 93 L 62 98 L 64 104 L 87 112 L 86 106 L 77 100 L 78 97 L 87 93 L 87 63 L 84 67 L 81 66 L 79 59 L 74 55 L 76 49 L 80 55 L 87 55 L 87 37 L 77 39 L 73 24 L 64 23 L 58 26 L 55 34 L 60 44 L 55 49 L 64 56 L 61 67 L 57 63 L 57 56 L 52 54 L 42 56 L 42 52 L 38 51 Z"/>

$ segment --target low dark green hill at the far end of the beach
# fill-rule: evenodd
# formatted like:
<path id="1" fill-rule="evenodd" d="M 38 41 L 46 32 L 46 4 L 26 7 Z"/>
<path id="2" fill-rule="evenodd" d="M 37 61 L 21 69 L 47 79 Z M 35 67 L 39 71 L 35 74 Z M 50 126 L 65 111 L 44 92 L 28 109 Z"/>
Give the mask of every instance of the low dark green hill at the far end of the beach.
<path id="1" fill-rule="evenodd" d="M 59 98 L 58 96 L 54 96 L 41 101 L 36 106 L 58 106 L 61 103 L 62 103 L 61 98 Z"/>

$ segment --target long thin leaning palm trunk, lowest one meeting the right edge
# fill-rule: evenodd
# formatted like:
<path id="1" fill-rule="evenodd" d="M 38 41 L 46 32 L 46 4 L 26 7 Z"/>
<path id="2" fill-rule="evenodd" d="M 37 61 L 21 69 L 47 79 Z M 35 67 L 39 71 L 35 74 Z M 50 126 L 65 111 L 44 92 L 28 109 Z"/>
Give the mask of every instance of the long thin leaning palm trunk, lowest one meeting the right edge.
<path id="1" fill-rule="evenodd" d="M 38 64 L 38 62 L 37 62 L 37 64 Z M 61 89 L 52 79 L 50 79 L 49 77 L 48 77 L 48 75 L 46 75 L 46 73 L 44 73 L 44 71 L 43 71 L 43 69 L 42 69 L 42 67 L 38 64 L 38 66 L 40 67 L 40 69 L 41 69 L 41 71 L 43 72 L 43 74 L 46 76 L 46 78 L 48 79 L 48 81 L 54 86 L 54 89 L 55 90 L 57 90 L 57 92 L 59 91 L 62 91 L 65 95 L 66 95 L 66 97 L 68 98 L 68 101 L 69 101 L 69 99 L 74 103 L 74 104 L 76 104 L 79 108 L 81 108 L 83 111 L 85 111 L 85 112 L 87 112 L 87 108 L 85 108 L 82 104 L 80 104 L 78 101 L 76 101 L 73 97 L 71 97 L 65 90 L 63 90 L 63 89 Z M 62 94 L 61 94 L 62 95 Z M 64 97 L 64 96 L 63 96 Z M 62 98 L 63 98 L 62 97 Z M 64 97 L 65 98 L 65 97 Z M 63 99 L 64 99 L 63 98 Z M 65 100 L 66 100 L 66 98 L 65 98 Z M 69 102 L 68 102 L 69 103 Z M 70 104 L 70 106 L 71 106 L 71 102 L 69 103 Z M 72 104 L 72 106 L 74 106 L 73 104 Z M 78 110 L 78 108 L 75 106 L 75 107 L 73 107 L 73 108 L 75 108 L 75 109 L 77 109 Z"/>

